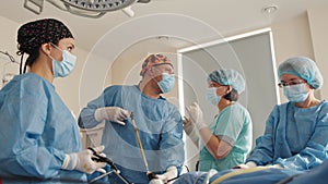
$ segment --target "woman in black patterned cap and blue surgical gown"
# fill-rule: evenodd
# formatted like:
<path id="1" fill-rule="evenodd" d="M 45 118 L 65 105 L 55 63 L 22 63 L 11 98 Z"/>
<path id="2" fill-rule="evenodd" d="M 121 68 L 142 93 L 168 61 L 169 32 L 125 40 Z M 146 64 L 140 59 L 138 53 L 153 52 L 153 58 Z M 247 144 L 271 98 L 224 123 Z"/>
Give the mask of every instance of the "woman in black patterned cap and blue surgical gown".
<path id="1" fill-rule="evenodd" d="M 28 58 L 24 74 L 0 90 L 0 183 L 85 181 L 105 163 L 81 151 L 77 122 L 52 85 L 74 68 L 74 38 L 60 21 L 44 19 L 22 25 L 17 42 L 21 62 Z"/>

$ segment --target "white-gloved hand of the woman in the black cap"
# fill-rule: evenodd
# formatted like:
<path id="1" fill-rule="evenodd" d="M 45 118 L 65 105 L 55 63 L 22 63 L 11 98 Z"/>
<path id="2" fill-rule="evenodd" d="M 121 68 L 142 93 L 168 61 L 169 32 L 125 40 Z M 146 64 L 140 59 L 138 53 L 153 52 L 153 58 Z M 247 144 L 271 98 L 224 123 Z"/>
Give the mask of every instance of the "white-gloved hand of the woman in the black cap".
<path id="1" fill-rule="evenodd" d="M 98 146 L 94 148 L 98 154 L 105 149 L 105 146 Z M 65 156 L 61 169 L 65 170 L 78 170 L 92 174 L 95 171 L 104 172 L 102 168 L 106 165 L 105 162 L 93 161 L 93 152 L 90 149 L 84 149 L 81 152 L 73 152 Z"/>

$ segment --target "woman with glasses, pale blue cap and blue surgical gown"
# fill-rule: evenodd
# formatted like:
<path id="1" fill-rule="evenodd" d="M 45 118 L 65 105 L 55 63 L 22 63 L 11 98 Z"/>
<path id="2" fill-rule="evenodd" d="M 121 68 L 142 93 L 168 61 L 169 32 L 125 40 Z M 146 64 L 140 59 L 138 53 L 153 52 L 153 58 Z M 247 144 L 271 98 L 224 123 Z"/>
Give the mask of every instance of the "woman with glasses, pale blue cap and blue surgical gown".
<path id="1" fill-rule="evenodd" d="M 241 168 L 276 164 L 292 170 L 311 170 L 328 158 L 328 103 L 314 96 L 323 86 L 315 62 L 305 57 L 290 58 L 278 69 L 289 102 L 277 105 L 266 131 Z"/>

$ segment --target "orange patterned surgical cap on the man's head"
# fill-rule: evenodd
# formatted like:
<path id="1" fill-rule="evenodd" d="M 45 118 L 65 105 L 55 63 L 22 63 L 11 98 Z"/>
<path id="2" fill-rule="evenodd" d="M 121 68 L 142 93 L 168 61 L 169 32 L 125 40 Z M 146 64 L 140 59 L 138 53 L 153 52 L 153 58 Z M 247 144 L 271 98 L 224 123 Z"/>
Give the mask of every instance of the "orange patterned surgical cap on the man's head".
<path id="1" fill-rule="evenodd" d="M 143 61 L 142 63 L 142 69 L 140 71 L 140 75 L 143 76 L 143 74 L 145 73 L 145 71 L 154 65 L 160 65 L 160 64 L 169 64 L 173 66 L 172 61 L 163 56 L 163 54 L 150 54 L 149 57 L 147 57 L 147 59 Z"/>

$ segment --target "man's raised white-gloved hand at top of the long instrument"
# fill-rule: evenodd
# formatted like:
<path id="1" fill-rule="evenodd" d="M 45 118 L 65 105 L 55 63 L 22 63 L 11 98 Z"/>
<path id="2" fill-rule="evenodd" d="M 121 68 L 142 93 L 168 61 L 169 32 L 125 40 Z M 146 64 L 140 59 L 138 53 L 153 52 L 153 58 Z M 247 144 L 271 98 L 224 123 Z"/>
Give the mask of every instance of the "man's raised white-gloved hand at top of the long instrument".
<path id="1" fill-rule="evenodd" d="M 98 108 L 94 112 L 94 118 L 96 121 L 101 122 L 103 120 L 116 122 L 120 125 L 126 125 L 124 120 L 128 119 L 130 116 L 130 112 L 121 109 L 119 107 L 104 107 L 104 108 Z"/>

